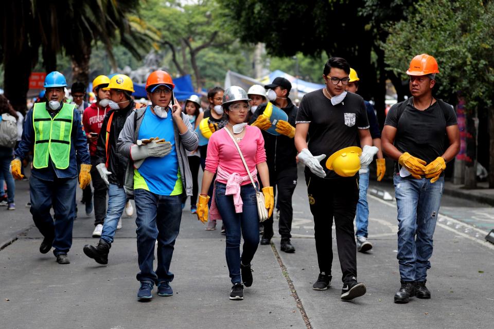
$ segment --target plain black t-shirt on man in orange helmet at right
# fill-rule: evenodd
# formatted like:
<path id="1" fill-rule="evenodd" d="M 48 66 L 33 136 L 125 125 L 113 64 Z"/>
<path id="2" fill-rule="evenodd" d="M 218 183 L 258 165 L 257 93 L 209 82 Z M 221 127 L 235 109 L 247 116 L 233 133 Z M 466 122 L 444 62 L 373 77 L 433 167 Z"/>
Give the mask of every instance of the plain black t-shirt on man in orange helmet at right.
<path id="1" fill-rule="evenodd" d="M 449 147 L 446 127 L 457 124 L 456 114 L 453 106 L 440 100 L 420 111 L 413 106 L 412 99 L 393 105 L 384 125 L 396 128 L 394 145 L 400 152 L 430 163 Z"/>

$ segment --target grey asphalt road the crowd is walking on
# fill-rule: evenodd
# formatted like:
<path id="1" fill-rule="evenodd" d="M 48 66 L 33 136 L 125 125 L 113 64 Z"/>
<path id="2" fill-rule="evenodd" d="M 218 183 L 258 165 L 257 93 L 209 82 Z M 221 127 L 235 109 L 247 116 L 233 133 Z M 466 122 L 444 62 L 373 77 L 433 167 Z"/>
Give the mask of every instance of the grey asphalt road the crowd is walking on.
<path id="1" fill-rule="evenodd" d="M 372 186 L 393 194 L 391 182 Z M 369 196 L 369 239 L 374 248 L 358 253 L 358 279 L 367 294 L 342 302 L 341 270 L 333 233 L 333 282 L 312 290 L 317 279 L 313 222 L 303 175 L 293 197 L 294 254 L 259 246 L 252 262 L 254 284 L 243 301 L 230 301 L 231 283 L 224 236 L 205 231 L 187 205 L 175 245 L 172 297 L 136 301 L 139 283 L 135 215 L 123 218 L 108 266 L 85 257 L 93 216 L 79 206 L 69 265 L 38 251 L 41 235 L 32 227 L 28 182 L 18 182 L 15 211 L 0 209 L 0 328 L 491 328 L 494 323 L 494 245 L 483 236 L 494 227 L 494 209 L 444 197 L 434 235 L 428 287 L 432 299 L 394 304 L 399 288 L 396 205 Z M 78 191 L 78 199 L 80 190 Z M 276 225 L 276 223 L 275 223 Z M 485 234 L 484 234 L 485 233 Z M 9 244 L 10 243 L 10 244 Z M 279 255 L 279 258 L 277 257 Z"/>

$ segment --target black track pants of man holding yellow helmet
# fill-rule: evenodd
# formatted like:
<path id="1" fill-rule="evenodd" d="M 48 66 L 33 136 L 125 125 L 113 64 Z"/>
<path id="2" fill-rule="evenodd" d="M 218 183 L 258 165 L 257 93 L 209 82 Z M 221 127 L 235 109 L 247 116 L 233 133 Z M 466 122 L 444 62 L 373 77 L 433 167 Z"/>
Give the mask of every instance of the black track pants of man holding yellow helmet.
<path id="1" fill-rule="evenodd" d="M 342 280 L 357 278 L 357 246 L 354 218 L 359 201 L 358 178 L 323 179 L 305 174 L 310 212 L 314 216 L 315 249 L 319 270 L 330 275 L 333 261 L 331 227 L 336 225 L 336 243 Z"/>

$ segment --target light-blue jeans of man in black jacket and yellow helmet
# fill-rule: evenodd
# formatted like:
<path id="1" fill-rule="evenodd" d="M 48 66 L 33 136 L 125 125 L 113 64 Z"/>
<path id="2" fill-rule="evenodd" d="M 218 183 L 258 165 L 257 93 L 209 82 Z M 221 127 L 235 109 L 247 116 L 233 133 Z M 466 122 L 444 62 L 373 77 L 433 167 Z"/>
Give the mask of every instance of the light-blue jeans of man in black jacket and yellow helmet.
<path id="1" fill-rule="evenodd" d="M 122 216 L 123 209 L 127 203 L 127 197 L 123 187 L 110 184 L 108 188 L 108 210 L 104 216 L 103 231 L 101 232 L 101 239 L 108 243 L 113 242 L 113 237 L 117 231 L 118 221 Z"/>

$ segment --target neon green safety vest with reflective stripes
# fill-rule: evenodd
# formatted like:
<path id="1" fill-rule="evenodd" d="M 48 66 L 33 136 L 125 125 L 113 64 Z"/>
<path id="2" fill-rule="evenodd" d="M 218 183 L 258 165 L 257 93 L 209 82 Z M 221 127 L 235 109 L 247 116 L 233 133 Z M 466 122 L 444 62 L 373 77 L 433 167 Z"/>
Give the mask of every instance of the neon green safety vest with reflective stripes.
<path id="1" fill-rule="evenodd" d="M 70 135 L 75 105 L 63 103 L 60 111 L 51 118 L 46 103 L 36 103 L 32 110 L 34 128 L 34 159 L 36 169 L 48 167 L 48 157 L 57 169 L 67 169 L 70 160 Z"/>

